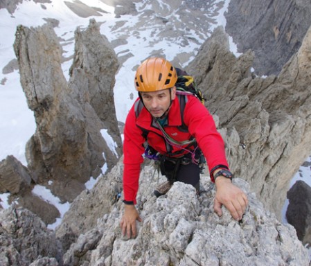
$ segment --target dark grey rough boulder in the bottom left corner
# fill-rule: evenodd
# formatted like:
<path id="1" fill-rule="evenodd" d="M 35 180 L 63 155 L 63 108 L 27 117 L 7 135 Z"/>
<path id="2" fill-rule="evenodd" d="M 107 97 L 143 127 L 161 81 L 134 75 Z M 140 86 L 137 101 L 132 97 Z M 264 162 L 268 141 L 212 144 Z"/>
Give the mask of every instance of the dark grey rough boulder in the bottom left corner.
<path id="1" fill-rule="evenodd" d="M 0 210 L 0 220 L 1 265 L 30 265 L 39 257 L 51 258 L 51 262 L 62 260 L 60 242 L 56 240 L 55 233 L 46 229 L 42 220 L 30 211 Z"/>

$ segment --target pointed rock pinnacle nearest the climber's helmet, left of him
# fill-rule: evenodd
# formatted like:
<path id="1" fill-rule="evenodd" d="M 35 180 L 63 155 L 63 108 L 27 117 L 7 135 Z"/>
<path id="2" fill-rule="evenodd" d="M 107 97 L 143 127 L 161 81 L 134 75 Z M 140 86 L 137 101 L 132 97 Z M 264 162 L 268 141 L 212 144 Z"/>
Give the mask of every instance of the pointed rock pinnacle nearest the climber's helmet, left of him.
<path id="1" fill-rule="evenodd" d="M 100 35 L 99 25 L 94 19 L 90 20 L 86 30 L 81 31 L 78 28 L 75 31 L 75 54 L 70 69 L 71 86 L 79 91 L 81 100 L 89 101 L 103 127 L 116 142 L 117 154 L 121 154 L 122 141 L 114 106 L 115 73 L 118 66 L 112 45 L 104 35 Z M 85 80 L 80 82 L 82 74 Z M 85 95 L 82 96 L 82 93 Z M 96 140 L 94 145 L 97 145 Z M 107 154 L 106 159 L 109 168 L 118 161 L 113 153 Z"/>

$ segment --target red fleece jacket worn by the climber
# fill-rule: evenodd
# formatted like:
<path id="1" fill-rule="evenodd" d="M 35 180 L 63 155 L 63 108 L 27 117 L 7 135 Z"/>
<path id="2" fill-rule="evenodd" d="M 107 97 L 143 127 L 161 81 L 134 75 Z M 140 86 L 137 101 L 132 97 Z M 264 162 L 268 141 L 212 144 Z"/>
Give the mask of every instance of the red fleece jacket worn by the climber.
<path id="1" fill-rule="evenodd" d="M 185 97 L 187 99 L 184 109 L 184 123 L 188 126 L 188 132 L 178 130 L 178 126 L 182 124 L 178 97 L 172 101 L 170 111 L 168 112 L 168 125 L 164 126 L 164 129 L 176 141 L 185 141 L 190 139 L 190 136 L 194 136 L 206 158 L 209 170 L 218 165 L 228 167 L 224 151 L 224 141 L 216 130 L 213 116 L 195 96 Z M 161 154 L 168 152 L 163 134 L 161 130 L 152 125 L 152 116 L 148 110 L 143 107 L 139 116 L 136 117 L 134 104 L 125 121 L 123 143 L 124 199 L 129 202 L 133 201 L 134 204 L 136 204 L 136 194 L 139 190 L 139 172 L 141 163 L 143 163 L 142 155 L 145 152 L 143 148 L 145 139 L 141 128 L 148 130 L 148 144 L 152 148 Z M 173 148 L 172 152 L 181 150 L 175 146 L 171 148 Z M 211 175 L 211 179 L 213 181 L 213 175 Z"/>

